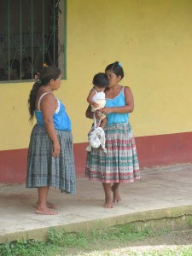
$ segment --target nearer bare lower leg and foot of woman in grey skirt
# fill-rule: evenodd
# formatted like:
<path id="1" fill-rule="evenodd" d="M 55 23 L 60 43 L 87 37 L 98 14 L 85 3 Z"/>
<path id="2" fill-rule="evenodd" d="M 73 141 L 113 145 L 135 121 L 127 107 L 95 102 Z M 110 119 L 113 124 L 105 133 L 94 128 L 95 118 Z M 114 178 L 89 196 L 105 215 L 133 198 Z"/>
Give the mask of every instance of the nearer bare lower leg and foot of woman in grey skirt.
<path id="1" fill-rule="evenodd" d="M 53 212 L 47 207 L 47 197 L 49 192 L 49 186 L 38 188 L 38 205 L 35 213 L 44 215 L 56 215 L 59 212 Z"/>

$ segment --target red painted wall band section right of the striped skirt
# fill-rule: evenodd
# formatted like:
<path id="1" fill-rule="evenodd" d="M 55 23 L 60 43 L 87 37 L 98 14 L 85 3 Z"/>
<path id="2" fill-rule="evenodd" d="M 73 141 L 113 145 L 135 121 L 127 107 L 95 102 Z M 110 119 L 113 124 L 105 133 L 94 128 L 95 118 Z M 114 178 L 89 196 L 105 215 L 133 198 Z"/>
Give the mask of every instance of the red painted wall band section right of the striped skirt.
<path id="1" fill-rule="evenodd" d="M 192 162 L 192 132 L 136 137 L 140 167 Z"/>

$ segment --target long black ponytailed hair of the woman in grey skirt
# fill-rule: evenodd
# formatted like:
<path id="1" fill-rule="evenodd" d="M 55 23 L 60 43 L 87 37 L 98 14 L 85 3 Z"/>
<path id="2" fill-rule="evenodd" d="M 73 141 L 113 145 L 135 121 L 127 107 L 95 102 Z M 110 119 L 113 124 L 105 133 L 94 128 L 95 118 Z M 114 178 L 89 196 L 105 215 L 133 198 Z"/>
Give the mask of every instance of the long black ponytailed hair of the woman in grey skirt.
<path id="1" fill-rule="evenodd" d="M 39 73 L 38 81 L 35 82 L 32 86 L 32 90 L 29 95 L 28 99 L 28 109 L 30 113 L 30 120 L 32 120 L 35 112 L 35 102 L 36 102 L 36 97 L 38 95 L 38 89 L 41 86 L 45 86 L 49 84 L 49 81 L 51 79 L 58 79 L 59 76 L 61 75 L 61 70 L 58 67 L 54 66 L 49 66 L 49 67 L 44 67 L 41 72 Z"/>

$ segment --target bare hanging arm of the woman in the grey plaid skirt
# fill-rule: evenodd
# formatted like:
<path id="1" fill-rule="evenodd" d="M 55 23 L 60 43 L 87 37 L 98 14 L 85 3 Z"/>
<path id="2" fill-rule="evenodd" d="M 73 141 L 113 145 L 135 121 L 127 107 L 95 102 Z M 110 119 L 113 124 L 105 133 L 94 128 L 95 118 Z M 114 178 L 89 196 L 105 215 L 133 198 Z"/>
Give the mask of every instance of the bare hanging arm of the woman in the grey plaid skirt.
<path id="1" fill-rule="evenodd" d="M 55 109 L 57 107 L 57 102 L 51 94 L 48 94 L 44 96 L 44 98 L 41 101 L 41 111 L 44 116 L 44 125 L 45 129 L 51 138 L 53 142 L 53 156 L 57 156 L 60 154 L 60 143 L 58 141 L 56 131 L 55 131 L 55 125 L 53 122 L 53 114 L 55 112 Z"/>

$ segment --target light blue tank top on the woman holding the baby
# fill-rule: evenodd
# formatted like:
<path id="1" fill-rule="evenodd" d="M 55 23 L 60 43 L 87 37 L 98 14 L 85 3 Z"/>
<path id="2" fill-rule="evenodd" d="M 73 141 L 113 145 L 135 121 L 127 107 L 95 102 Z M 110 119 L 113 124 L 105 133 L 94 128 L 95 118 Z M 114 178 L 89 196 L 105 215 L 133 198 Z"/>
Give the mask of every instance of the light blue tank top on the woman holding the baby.
<path id="1" fill-rule="evenodd" d="M 106 98 L 105 107 L 123 107 L 125 106 L 125 94 L 124 87 L 120 90 L 119 95 L 113 99 Z M 108 124 L 119 124 L 119 123 L 128 123 L 130 113 L 108 113 L 107 119 Z"/>

